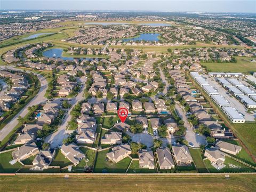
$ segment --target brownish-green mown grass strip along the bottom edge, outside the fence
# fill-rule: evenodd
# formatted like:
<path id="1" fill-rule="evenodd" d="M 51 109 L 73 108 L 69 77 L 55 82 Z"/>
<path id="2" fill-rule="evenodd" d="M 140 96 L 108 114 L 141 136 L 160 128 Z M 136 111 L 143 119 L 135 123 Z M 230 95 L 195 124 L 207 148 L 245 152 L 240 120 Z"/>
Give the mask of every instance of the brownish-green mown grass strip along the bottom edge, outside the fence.
<path id="1" fill-rule="evenodd" d="M 17 175 L 1 191 L 255 191 L 255 175 Z"/>

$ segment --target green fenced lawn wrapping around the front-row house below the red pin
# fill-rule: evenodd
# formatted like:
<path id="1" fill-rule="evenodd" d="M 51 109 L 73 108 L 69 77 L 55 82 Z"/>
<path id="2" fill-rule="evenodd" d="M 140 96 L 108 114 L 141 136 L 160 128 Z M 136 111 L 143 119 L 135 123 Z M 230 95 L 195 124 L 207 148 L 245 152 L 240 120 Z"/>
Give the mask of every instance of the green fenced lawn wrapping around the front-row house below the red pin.
<path id="1" fill-rule="evenodd" d="M 106 154 L 109 151 L 111 151 L 111 149 L 98 152 L 94 166 L 94 172 L 102 173 L 102 170 L 107 170 L 108 173 L 125 173 L 127 167 L 131 162 L 131 159 L 129 157 L 126 157 L 118 163 L 112 163 L 109 160 L 106 160 Z"/>

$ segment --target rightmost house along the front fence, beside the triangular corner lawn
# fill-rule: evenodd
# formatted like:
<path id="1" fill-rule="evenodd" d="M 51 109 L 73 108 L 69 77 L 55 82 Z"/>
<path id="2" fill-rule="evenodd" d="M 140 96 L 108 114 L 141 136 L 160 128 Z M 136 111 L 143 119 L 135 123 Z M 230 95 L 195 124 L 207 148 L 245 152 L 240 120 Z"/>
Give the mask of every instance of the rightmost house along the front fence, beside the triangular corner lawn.
<path id="1" fill-rule="evenodd" d="M 211 164 L 218 170 L 225 166 L 225 153 L 221 152 L 219 149 L 213 146 L 210 149 L 205 150 L 204 156 L 207 157 Z"/>

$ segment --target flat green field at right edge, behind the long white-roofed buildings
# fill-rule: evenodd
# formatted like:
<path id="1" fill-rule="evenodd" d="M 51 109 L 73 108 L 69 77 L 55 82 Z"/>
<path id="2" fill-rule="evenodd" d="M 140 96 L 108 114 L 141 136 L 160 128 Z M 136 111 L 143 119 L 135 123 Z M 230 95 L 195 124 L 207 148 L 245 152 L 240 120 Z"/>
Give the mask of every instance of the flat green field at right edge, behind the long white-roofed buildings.
<path id="1" fill-rule="evenodd" d="M 240 72 L 250 73 L 256 71 L 256 62 L 251 62 L 247 57 L 235 57 L 237 63 L 201 63 L 208 71 L 213 72 Z"/>

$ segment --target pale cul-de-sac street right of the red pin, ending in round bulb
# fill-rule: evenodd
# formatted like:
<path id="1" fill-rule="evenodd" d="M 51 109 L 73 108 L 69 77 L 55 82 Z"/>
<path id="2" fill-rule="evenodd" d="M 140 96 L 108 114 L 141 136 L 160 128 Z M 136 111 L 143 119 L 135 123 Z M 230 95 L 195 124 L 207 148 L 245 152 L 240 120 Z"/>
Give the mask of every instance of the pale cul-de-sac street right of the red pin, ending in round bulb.
<path id="1" fill-rule="evenodd" d="M 194 145 L 194 147 L 196 148 L 200 147 L 200 145 L 205 145 L 205 136 L 196 135 L 193 126 L 191 126 L 191 124 L 188 122 L 185 111 L 181 108 L 181 106 L 178 103 L 175 103 L 175 110 L 179 117 L 184 121 L 184 126 L 187 128 L 185 139 L 189 142 L 189 144 Z"/>

